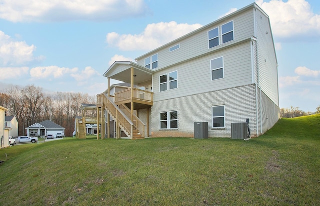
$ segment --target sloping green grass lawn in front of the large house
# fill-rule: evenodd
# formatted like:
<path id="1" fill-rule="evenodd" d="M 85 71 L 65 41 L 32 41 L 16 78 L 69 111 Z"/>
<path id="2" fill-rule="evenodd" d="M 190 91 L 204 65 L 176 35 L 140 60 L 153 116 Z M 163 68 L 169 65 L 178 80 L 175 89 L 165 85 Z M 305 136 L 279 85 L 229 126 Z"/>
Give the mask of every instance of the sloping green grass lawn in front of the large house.
<path id="1" fill-rule="evenodd" d="M 320 205 L 320 115 L 249 141 L 64 138 L 0 160 L 1 206 Z"/>

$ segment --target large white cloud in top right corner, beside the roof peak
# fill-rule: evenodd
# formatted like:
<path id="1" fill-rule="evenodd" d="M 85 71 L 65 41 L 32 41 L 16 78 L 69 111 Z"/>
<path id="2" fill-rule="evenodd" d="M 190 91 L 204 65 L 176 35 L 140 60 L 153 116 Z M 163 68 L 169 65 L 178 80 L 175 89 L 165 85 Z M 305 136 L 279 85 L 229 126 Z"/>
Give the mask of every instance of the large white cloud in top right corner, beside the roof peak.
<path id="1" fill-rule="evenodd" d="M 274 36 L 294 37 L 303 34 L 318 37 L 320 34 L 320 15 L 314 14 L 305 0 L 255 2 L 269 15 Z"/>

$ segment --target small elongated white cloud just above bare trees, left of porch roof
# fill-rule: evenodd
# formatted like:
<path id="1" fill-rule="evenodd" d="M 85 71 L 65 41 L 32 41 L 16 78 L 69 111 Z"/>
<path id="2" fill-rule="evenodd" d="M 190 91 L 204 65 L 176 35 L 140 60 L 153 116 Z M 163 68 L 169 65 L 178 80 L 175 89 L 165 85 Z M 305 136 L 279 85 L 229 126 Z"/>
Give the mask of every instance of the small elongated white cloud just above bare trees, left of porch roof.
<path id="1" fill-rule="evenodd" d="M 30 69 L 30 76 L 34 79 L 51 79 L 62 77 L 67 73 L 75 73 L 77 70 L 77 68 L 70 69 L 58 66 L 38 66 Z"/>

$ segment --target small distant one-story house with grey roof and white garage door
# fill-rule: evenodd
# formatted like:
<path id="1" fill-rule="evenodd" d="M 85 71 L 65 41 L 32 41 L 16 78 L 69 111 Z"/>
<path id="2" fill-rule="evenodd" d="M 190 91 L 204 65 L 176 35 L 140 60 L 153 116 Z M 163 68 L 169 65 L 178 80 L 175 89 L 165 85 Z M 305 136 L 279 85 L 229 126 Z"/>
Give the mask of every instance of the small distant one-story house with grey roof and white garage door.
<path id="1" fill-rule="evenodd" d="M 50 121 L 44 120 L 43 122 L 34 123 L 26 128 L 26 135 L 45 137 L 47 135 L 53 135 L 56 137 L 56 133 L 62 133 L 64 135 L 64 128 L 60 125 Z"/>

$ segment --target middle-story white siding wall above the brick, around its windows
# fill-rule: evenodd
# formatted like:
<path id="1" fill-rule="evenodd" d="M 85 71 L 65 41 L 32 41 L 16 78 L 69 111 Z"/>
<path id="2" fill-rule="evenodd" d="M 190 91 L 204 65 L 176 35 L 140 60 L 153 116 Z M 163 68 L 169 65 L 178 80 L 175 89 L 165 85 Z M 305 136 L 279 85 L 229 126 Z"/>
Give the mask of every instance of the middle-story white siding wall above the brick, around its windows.
<path id="1" fill-rule="evenodd" d="M 223 56 L 224 78 L 211 81 L 210 60 Z M 241 61 L 238 61 L 238 60 Z M 178 88 L 159 92 L 159 76 L 178 72 Z M 250 42 L 194 59 L 153 75 L 154 101 L 251 83 Z"/>

